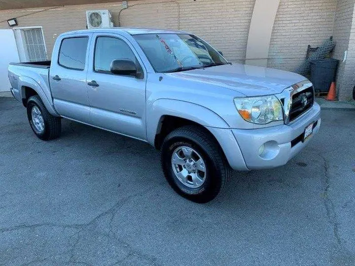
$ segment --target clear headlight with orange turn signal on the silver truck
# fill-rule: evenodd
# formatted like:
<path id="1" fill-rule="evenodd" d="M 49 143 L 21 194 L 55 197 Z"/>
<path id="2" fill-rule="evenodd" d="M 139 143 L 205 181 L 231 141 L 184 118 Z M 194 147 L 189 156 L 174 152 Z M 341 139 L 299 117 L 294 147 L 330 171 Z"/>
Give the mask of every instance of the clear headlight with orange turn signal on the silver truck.
<path id="1" fill-rule="evenodd" d="M 284 112 L 279 99 L 274 95 L 235 98 L 234 103 L 243 119 L 254 124 L 268 124 L 284 120 Z"/>

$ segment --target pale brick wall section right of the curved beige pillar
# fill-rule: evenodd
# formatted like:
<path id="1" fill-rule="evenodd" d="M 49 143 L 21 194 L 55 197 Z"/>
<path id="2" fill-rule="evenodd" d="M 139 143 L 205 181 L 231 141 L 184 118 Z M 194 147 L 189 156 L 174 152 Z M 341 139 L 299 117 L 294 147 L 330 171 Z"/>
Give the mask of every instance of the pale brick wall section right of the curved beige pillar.
<path id="1" fill-rule="evenodd" d="M 307 46 L 320 46 L 333 34 L 336 0 L 281 0 L 269 48 L 269 67 L 294 71 Z"/>

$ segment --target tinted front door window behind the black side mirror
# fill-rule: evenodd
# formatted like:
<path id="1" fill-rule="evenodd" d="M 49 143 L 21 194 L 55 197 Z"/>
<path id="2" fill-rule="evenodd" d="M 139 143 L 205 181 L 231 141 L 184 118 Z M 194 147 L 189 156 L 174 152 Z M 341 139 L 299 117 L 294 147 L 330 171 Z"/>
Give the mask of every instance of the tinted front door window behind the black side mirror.
<path id="1" fill-rule="evenodd" d="M 113 37 L 98 37 L 95 46 L 95 71 L 110 72 L 111 62 L 117 59 L 129 59 L 138 65 L 136 56 L 123 40 Z"/>

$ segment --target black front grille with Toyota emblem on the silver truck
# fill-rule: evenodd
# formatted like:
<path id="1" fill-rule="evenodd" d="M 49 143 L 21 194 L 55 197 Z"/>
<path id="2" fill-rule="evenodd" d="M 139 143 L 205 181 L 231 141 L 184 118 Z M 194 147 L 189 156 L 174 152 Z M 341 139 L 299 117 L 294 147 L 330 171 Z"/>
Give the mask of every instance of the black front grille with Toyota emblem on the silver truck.
<path id="1" fill-rule="evenodd" d="M 307 101 L 306 101 L 306 100 Z M 295 93 L 292 96 L 292 104 L 289 110 L 289 121 L 296 119 L 313 106 L 314 92 L 313 87 Z"/>

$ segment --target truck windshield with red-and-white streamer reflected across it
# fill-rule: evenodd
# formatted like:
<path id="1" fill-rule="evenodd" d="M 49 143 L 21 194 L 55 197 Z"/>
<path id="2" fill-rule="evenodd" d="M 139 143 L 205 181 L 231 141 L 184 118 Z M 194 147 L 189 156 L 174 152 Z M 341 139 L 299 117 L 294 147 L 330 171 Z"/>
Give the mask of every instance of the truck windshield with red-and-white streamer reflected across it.
<path id="1" fill-rule="evenodd" d="M 156 72 L 176 72 L 228 64 L 208 43 L 190 34 L 133 36 Z"/>

